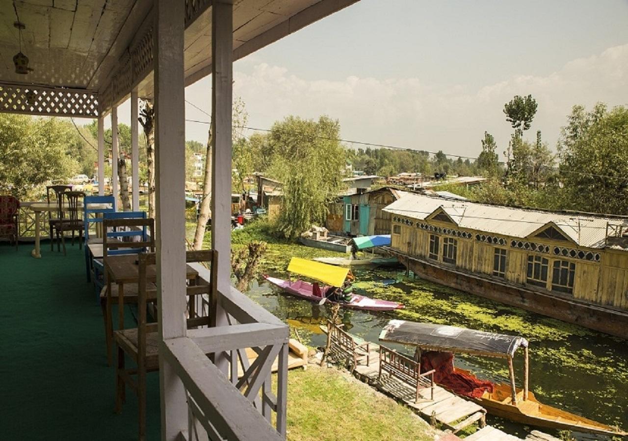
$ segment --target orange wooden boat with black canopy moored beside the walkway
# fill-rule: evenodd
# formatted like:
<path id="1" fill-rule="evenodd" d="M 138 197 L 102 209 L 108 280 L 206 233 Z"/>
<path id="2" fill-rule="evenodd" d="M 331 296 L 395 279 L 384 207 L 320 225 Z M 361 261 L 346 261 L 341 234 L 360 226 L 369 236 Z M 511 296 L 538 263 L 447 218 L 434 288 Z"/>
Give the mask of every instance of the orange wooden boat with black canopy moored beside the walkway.
<path id="1" fill-rule="evenodd" d="M 434 380 L 438 385 L 457 395 L 477 401 L 487 412 L 497 417 L 536 427 L 610 436 L 628 435 L 620 428 L 539 402 L 528 390 L 528 341 L 523 337 L 474 331 L 456 326 L 391 320 L 382 330 L 379 339 L 414 346 L 415 356 L 421 360 L 421 370 L 424 367 L 436 369 Z M 512 358 L 519 348 L 524 352 L 523 388 L 516 387 L 512 367 Z M 454 368 L 453 353 L 507 359 L 511 384 L 494 384 L 480 380 L 470 371 Z M 439 358 L 445 363 L 434 362 Z"/>

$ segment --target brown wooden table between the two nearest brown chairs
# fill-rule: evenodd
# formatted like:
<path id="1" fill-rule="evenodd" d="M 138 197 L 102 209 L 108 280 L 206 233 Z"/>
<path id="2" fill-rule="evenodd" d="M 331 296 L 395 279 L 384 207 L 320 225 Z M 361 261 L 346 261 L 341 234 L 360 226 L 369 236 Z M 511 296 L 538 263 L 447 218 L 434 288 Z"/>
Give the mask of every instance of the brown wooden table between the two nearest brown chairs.
<path id="1" fill-rule="evenodd" d="M 119 254 L 103 258 L 106 284 L 108 286 L 111 284 L 116 284 L 118 286 L 118 329 L 124 329 L 124 284 L 136 284 L 139 282 L 139 265 L 136 263 L 137 261 L 137 254 Z M 198 271 L 190 267 L 190 265 L 186 265 L 186 278 L 188 280 L 195 280 L 197 277 Z M 148 267 L 146 267 L 146 279 L 148 279 L 149 282 L 154 282 L 157 279 L 157 265 L 148 265 Z M 110 289 L 110 287 L 107 288 L 108 291 Z M 107 338 L 112 339 L 113 322 L 111 319 L 109 295 L 107 296 L 105 307 Z M 109 343 L 107 346 L 109 346 Z M 109 348 L 107 348 L 107 356 L 111 356 Z M 109 358 L 109 364 L 111 364 L 111 358 Z"/>

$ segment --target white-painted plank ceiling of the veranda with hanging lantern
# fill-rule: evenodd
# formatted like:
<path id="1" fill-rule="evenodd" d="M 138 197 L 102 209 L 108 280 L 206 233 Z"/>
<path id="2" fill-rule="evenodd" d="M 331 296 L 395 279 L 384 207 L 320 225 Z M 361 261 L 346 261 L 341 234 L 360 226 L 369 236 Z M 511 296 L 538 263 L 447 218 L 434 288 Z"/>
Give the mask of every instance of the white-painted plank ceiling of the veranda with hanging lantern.
<path id="1" fill-rule="evenodd" d="M 206 6 L 211 2 L 180 1 L 187 4 L 188 85 L 211 72 L 211 8 Z M 234 0 L 234 58 L 355 1 Z M 138 87 L 141 97 L 151 97 L 152 6 L 152 0 L 1 1 L 0 82 L 94 91 L 101 114 L 126 98 L 133 87 Z M 19 51 L 18 29 L 13 26 L 18 18 L 26 25 L 22 51 L 33 68 L 28 75 L 15 73 L 13 65 L 13 55 Z"/>

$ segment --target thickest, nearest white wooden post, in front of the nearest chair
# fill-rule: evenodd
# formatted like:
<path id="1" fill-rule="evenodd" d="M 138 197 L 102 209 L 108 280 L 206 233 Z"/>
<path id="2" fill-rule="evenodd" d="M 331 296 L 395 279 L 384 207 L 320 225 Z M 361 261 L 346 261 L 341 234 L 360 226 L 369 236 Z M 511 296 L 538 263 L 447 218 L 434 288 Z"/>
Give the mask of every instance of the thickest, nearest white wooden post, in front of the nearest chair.
<path id="1" fill-rule="evenodd" d="M 154 1 L 153 63 L 156 115 L 155 185 L 159 332 L 186 335 L 185 322 L 185 2 Z M 161 439 L 187 428 L 185 388 L 160 356 Z"/>

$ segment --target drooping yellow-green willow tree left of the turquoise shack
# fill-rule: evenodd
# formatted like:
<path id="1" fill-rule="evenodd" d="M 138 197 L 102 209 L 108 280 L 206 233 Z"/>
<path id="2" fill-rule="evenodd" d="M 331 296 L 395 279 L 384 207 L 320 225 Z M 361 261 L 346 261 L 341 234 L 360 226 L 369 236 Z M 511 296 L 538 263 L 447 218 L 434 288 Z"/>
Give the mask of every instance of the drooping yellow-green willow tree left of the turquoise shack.
<path id="1" fill-rule="evenodd" d="M 276 228 L 294 239 L 325 221 L 328 204 L 344 188 L 345 149 L 338 120 L 286 117 L 269 134 L 273 160 L 268 174 L 283 183 Z"/>

